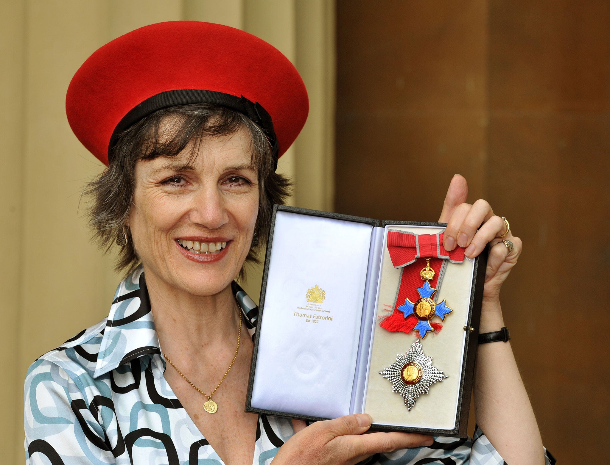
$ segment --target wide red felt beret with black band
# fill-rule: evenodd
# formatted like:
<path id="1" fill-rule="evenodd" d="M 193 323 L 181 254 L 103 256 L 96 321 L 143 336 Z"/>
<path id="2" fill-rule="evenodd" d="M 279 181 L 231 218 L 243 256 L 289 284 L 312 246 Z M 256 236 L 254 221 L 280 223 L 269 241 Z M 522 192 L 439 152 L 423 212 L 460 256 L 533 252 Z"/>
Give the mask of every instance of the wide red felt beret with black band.
<path id="1" fill-rule="evenodd" d="M 276 157 L 296 139 L 309 112 L 303 80 L 278 49 L 233 27 L 170 21 L 95 51 L 70 82 L 66 114 L 76 137 L 108 165 L 120 132 L 161 108 L 192 103 L 248 116 Z"/>

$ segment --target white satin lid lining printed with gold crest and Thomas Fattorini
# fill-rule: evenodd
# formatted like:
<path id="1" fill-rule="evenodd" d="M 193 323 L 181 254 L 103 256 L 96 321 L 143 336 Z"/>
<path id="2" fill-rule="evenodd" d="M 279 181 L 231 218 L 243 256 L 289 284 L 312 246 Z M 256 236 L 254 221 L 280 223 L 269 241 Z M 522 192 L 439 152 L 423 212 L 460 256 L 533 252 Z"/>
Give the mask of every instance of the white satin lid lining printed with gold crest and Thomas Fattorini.
<path id="1" fill-rule="evenodd" d="M 350 413 L 372 229 L 278 211 L 251 406 Z"/>

